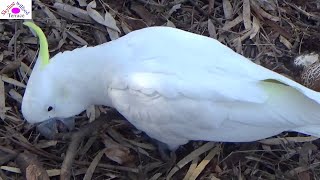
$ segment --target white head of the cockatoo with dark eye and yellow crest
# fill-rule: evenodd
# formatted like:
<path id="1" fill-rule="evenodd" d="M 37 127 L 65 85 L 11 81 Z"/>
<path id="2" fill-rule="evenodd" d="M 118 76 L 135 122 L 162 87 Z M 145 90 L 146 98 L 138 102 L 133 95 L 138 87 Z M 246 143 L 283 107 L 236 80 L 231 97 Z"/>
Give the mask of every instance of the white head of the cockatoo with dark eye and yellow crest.
<path id="1" fill-rule="evenodd" d="M 68 118 L 81 113 L 87 107 L 81 101 L 81 92 L 73 82 L 74 68 L 49 63 L 49 51 L 42 30 L 31 22 L 26 26 L 40 39 L 40 52 L 29 78 L 22 100 L 22 114 L 29 123 L 39 123 L 51 118 Z M 63 58 L 62 55 L 59 58 Z M 79 96 L 80 95 L 80 96 Z"/>

